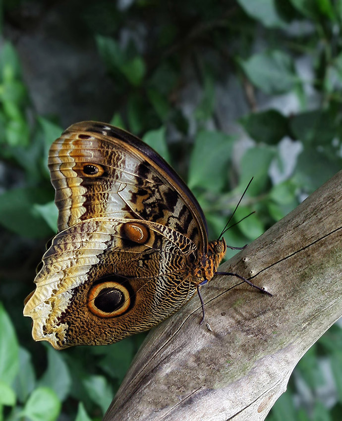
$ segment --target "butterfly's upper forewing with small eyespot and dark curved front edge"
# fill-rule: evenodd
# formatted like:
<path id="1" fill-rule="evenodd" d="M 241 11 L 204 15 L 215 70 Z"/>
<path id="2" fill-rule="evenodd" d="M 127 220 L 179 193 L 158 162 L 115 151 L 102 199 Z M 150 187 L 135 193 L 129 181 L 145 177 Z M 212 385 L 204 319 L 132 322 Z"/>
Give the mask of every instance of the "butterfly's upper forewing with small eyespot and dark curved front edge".
<path id="1" fill-rule="evenodd" d="M 155 151 L 105 123 L 70 126 L 49 155 L 58 230 L 93 217 L 131 218 L 176 230 L 207 253 L 207 227 L 196 199 Z"/>

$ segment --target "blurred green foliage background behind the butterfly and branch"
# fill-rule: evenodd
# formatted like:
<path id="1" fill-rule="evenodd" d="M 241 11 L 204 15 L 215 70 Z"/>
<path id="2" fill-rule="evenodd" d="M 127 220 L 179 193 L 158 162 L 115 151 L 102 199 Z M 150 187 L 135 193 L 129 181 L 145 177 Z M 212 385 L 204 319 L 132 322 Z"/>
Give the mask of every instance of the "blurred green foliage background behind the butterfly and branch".
<path id="1" fill-rule="evenodd" d="M 226 235 L 251 242 L 341 169 L 342 0 L 2 0 L 0 31 L 0 420 L 101 420 L 144 335 L 57 352 L 22 316 L 56 230 L 51 143 L 87 119 L 142 137 L 212 239 L 254 176 Z M 337 323 L 267 420 L 341 412 Z"/>

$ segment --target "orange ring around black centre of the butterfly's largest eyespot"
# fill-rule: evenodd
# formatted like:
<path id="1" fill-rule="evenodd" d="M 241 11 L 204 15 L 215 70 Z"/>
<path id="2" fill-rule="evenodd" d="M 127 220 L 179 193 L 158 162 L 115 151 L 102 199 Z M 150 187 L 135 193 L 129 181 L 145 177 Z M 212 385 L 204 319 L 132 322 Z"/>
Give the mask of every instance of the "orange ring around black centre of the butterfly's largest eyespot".
<path id="1" fill-rule="evenodd" d="M 103 310 L 100 310 L 95 306 L 96 297 L 98 297 L 101 291 L 106 288 L 118 289 L 123 294 L 124 302 L 122 306 L 119 309 L 114 310 L 113 312 L 104 312 Z M 87 306 L 88 306 L 89 311 L 93 313 L 95 316 L 107 317 L 107 318 L 120 316 L 127 311 L 129 305 L 130 305 L 129 292 L 127 288 L 125 288 L 123 285 L 119 284 L 118 282 L 106 281 L 106 282 L 102 282 L 100 284 L 94 285 L 90 289 L 89 294 L 88 294 Z"/>

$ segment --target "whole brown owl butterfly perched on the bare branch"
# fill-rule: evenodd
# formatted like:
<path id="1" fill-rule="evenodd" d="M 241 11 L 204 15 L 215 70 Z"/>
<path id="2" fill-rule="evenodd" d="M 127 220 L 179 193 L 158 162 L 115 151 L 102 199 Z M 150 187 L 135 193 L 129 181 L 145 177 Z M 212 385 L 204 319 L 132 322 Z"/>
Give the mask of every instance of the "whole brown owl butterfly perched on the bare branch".
<path id="1" fill-rule="evenodd" d="M 24 308 L 35 340 L 114 343 L 170 316 L 216 273 L 225 240 L 208 242 L 190 190 L 138 138 L 73 124 L 51 146 L 49 169 L 58 234 Z"/>

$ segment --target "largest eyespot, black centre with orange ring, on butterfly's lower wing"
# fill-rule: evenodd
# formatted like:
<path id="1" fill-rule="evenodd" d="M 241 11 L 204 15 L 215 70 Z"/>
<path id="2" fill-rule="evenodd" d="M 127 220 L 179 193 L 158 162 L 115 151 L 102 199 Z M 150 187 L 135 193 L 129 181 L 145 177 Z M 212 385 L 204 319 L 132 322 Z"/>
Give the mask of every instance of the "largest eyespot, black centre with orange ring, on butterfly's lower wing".
<path id="1" fill-rule="evenodd" d="M 114 281 L 94 285 L 88 296 L 88 309 L 99 317 L 114 317 L 125 313 L 131 304 L 125 286 Z"/>

